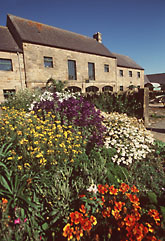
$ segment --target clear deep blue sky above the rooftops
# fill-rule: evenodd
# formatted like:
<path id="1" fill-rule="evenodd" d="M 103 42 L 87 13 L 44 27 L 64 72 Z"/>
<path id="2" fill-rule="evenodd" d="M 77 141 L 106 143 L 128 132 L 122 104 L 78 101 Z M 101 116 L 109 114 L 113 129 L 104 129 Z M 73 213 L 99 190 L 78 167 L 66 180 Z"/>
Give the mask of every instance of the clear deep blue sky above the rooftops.
<path id="1" fill-rule="evenodd" d="M 165 73 L 165 0 L 4 0 L 7 14 L 92 37 L 101 32 L 111 51 L 134 59 L 145 74 Z"/>

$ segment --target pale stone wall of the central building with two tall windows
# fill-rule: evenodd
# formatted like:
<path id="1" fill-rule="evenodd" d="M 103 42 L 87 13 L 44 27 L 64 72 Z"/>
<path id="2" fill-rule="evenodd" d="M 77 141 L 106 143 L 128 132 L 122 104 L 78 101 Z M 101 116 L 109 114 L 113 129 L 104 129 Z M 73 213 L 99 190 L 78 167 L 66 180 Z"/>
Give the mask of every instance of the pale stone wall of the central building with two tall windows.
<path id="1" fill-rule="evenodd" d="M 45 86 L 49 78 L 66 81 L 67 86 L 77 86 L 85 92 L 89 86 L 99 90 L 106 85 L 117 90 L 116 59 L 87 53 L 80 53 L 36 44 L 23 44 L 26 81 L 30 88 Z M 53 58 L 53 68 L 44 67 L 44 56 Z M 77 80 L 68 80 L 68 60 L 76 61 Z M 95 80 L 89 81 L 88 62 L 95 64 Z M 104 64 L 109 65 L 109 72 L 104 72 Z"/>

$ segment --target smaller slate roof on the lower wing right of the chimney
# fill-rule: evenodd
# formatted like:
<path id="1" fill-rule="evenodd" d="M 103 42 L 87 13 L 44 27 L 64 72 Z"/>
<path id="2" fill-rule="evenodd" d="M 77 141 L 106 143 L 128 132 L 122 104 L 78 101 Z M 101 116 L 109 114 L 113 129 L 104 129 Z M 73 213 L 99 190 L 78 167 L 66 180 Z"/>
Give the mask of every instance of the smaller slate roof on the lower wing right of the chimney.
<path id="1" fill-rule="evenodd" d="M 113 53 L 113 55 L 117 58 L 117 66 L 119 67 L 144 70 L 140 65 L 138 65 L 134 60 L 132 60 L 128 56 L 117 53 Z"/>

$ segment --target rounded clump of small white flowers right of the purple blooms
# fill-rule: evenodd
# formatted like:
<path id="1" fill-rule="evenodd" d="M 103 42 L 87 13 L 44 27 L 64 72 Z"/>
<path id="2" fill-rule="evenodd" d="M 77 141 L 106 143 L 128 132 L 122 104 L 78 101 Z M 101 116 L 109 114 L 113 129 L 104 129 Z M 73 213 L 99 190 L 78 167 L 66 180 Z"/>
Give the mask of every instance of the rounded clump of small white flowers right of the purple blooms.
<path id="1" fill-rule="evenodd" d="M 115 112 L 102 115 L 107 127 L 104 145 L 117 150 L 113 162 L 130 165 L 133 161 L 144 159 L 152 151 L 154 139 L 141 120 Z"/>

